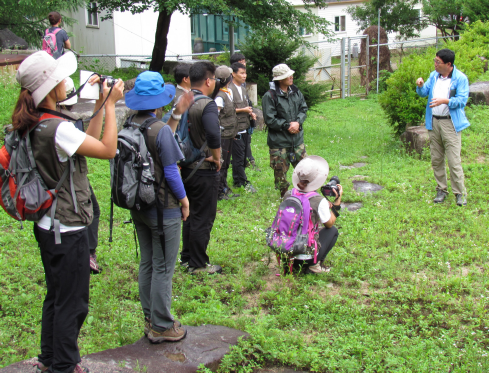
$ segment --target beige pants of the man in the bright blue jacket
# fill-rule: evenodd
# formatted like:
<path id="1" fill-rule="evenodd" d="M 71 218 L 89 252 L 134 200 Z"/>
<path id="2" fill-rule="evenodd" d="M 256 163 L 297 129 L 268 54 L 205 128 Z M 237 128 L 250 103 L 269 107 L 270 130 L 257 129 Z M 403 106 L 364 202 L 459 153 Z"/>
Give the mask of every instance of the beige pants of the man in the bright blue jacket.
<path id="1" fill-rule="evenodd" d="M 430 135 L 431 166 L 436 180 L 436 190 L 447 191 L 447 172 L 445 157 L 450 170 L 450 182 L 454 194 L 464 194 L 464 171 L 462 169 L 461 132 L 455 132 L 451 119 L 436 119 L 433 117 L 433 129 Z"/>

